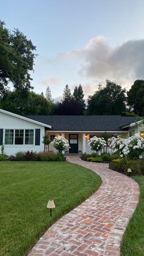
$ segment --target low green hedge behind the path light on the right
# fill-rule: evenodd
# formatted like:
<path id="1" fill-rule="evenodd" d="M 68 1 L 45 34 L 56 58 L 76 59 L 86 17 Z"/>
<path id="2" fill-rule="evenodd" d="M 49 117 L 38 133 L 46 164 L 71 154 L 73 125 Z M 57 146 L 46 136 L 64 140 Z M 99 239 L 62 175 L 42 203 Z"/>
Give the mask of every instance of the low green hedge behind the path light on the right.
<path id="1" fill-rule="evenodd" d="M 128 168 L 131 168 L 132 175 L 144 175 L 144 160 L 113 160 L 112 162 L 109 163 L 109 168 L 126 175 L 128 175 Z"/>

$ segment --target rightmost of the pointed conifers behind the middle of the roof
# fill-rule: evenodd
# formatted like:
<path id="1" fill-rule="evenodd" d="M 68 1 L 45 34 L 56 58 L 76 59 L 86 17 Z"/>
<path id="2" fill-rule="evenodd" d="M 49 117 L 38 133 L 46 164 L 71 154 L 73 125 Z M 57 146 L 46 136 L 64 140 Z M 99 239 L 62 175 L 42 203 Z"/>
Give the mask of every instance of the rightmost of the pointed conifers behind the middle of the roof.
<path id="1" fill-rule="evenodd" d="M 84 114 L 85 100 L 84 100 L 84 92 L 82 90 L 81 84 L 79 84 L 78 87 L 76 86 L 74 88 L 73 97 L 74 97 L 74 100 L 76 101 L 77 105 L 79 106 L 79 108 L 77 109 L 77 111 L 79 112 L 79 115 Z"/>

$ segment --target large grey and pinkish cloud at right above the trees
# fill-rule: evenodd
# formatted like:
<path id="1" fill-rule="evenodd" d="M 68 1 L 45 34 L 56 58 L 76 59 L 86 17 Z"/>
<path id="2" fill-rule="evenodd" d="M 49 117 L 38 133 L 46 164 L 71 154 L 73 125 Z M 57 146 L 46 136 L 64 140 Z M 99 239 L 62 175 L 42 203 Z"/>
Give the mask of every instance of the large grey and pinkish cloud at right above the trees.
<path id="1" fill-rule="evenodd" d="M 110 47 L 104 37 L 94 37 L 82 49 L 63 54 L 80 60 L 78 73 L 99 82 L 112 79 L 131 84 L 134 79 L 144 79 L 144 39 L 129 40 L 116 47 Z"/>

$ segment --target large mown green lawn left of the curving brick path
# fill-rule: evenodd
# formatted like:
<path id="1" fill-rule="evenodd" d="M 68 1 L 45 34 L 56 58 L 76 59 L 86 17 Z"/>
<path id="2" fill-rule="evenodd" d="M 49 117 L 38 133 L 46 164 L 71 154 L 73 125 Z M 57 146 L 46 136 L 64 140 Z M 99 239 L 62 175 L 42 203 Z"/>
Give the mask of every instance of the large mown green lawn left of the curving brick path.
<path id="1" fill-rule="evenodd" d="M 0 255 L 22 256 L 60 216 L 98 189 L 101 178 L 65 162 L 0 162 Z M 54 199 L 49 217 L 46 204 Z"/>

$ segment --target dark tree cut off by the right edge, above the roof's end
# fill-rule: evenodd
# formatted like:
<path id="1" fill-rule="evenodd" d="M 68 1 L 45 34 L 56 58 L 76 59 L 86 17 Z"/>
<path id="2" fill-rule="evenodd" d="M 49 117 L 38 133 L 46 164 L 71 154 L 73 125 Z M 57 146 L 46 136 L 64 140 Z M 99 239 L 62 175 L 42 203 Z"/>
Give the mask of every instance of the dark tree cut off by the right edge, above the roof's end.
<path id="1" fill-rule="evenodd" d="M 137 115 L 144 115 L 144 80 L 136 80 L 127 95 L 130 110 Z"/>

